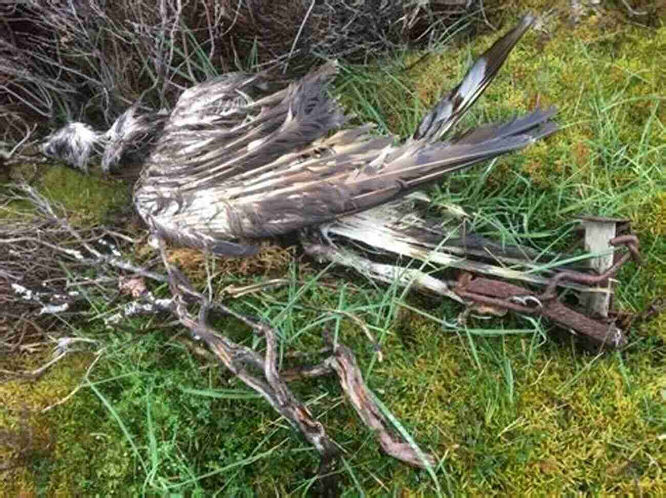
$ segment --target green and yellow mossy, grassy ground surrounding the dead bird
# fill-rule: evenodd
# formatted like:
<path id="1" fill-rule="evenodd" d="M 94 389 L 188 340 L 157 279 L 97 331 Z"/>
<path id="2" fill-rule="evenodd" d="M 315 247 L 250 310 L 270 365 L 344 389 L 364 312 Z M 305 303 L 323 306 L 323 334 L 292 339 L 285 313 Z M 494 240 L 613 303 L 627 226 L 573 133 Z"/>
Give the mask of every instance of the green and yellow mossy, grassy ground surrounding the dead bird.
<path id="1" fill-rule="evenodd" d="M 406 72 L 354 69 L 340 81 L 342 100 L 363 121 L 377 113 L 387 128 L 407 134 L 495 37 L 478 37 L 472 48 L 430 56 Z M 535 244 L 555 238 L 577 214 L 630 218 L 644 260 L 619 274 L 617 303 L 637 312 L 666 295 L 666 28 L 591 16 L 575 27 L 561 23 L 547 38 L 525 36 L 466 124 L 539 103 L 557 105 L 563 129 L 490 171 L 480 166 L 457 176 L 436 195 L 463 200 L 487 219 L 524 221 L 526 232 L 541 234 Z M 418 57 L 405 55 L 395 67 Z M 461 194 L 462 184 L 474 195 Z M 128 192 L 61 168 L 45 175 L 43 189 L 80 213 L 81 223 L 122 208 Z M 238 308 L 270 320 L 285 352 L 316 350 L 325 326 L 339 332 L 370 388 L 424 449 L 442 458 L 434 482 L 382 455 L 332 379 L 299 382 L 294 389 L 344 451 L 345 495 L 666 494 L 664 314 L 638 324 L 629 347 L 611 354 L 589 352 L 549 324 L 515 317 L 474 319 L 470 329 L 452 333 L 414 310 L 454 318 L 454 304 L 402 299 L 400 291 L 358 279 L 341 284 L 339 273 L 312 280 L 316 268 L 276 251 L 270 264 L 252 266 L 234 283 L 260 280 L 273 265 L 271 275 L 294 284 L 244 298 Z M 196 277 L 196 255 L 172 257 Z M 232 276 L 225 271 L 221 278 Z M 376 362 L 354 322 L 318 311 L 335 308 L 368 323 L 384 362 Z M 236 340 L 247 335 L 230 320 L 218 326 Z M 7 434 L 0 442 L 3 459 L 17 466 L 3 472 L 0 493 L 307 495 L 314 450 L 264 401 L 174 340 L 177 332 L 153 320 L 113 331 L 80 328 L 105 347 L 103 358 L 77 395 L 45 414 L 39 410 L 79 384 L 92 354 L 72 354 L 39 381 L 4 381 L 0 420 Z M 3 363 L 29 370 L 47 359 L 24 355 Z"/>

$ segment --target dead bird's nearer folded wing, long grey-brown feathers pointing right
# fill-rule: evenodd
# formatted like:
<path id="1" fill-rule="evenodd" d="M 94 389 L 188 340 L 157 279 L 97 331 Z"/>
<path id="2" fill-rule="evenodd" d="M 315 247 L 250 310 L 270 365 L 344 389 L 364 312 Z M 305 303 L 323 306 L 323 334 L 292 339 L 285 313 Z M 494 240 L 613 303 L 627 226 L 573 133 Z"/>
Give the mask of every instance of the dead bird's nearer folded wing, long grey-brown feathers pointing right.
<path id="1" fill-rule="evenodd" d="M 223 182 L 181 188 L 148 182 L 135 200 L 140 210 L 151 209 L 166 238 L 244 254 L 244 246 L 229 243 L 284 234 L 398 198 L 555 131 L 549 121 L 553 113 L 537 110 L 480 128 L 480 141 L 473 132 L 454 144 L 412 141 L 396 147 L 391 137 L 370 136 L 370 126 L 352 128 L 281 156 L 260 172 L 250 170 Z"/>

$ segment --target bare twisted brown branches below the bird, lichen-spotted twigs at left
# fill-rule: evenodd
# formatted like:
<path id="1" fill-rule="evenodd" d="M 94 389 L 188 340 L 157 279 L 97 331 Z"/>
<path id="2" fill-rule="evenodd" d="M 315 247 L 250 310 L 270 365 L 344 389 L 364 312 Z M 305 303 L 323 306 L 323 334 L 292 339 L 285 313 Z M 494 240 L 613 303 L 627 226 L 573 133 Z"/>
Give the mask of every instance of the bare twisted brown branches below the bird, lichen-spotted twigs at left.
<path id="1" fill-rule="evenodd" d="M 337 493 L 333 470 L 340 451 L 322 423 L 288 386 L 294 379 L 337 375 L 342 391 L 360 419 L 376 433 L 388 455 L 416 467 L 436 465 L 434 456 L 422 451 L 414 441 L 405 442 L 396 435 L 385 409 L 364 382 L 354 354 L 341 342 L 332 342 L 324 334 L 327 347 L 322 352 L 329 353 L 328 358 L 315 366 L 280 371 L 276 330 L 258 318 L 213 302 L 195 290 L 188 278 L 169 262 L 163 240 L 153 239 L 159 260 L 151 260 L 151 266 L 161 262 L 166 274 L 123 258 L 115 244 L 131 242 L 129 236 L 104 227 L 83 230 L 73 226 L 62 208 L 54 206 L 27 184 L 17 186 L 10 198 L 30 202 L 35 213 L 27 220 L 0 228 L 0 266 L 5 268 L 0 271 L 0 304 L 15 309 L 23 306 L 26 314 L 37 317 L 73 318 L 86 312 L 85 304 L 90 300 L 113 302 L 119 294 L 126 294 L 131 296 L 131 301 L 121 312 L 105 318 L 108 326 L 122 325 L 136 314 L 166 312 L 174 315 L 195 341 L 202 342 L 220 364 L 259 393 L 314 446 L 320 454 L 317 475 L 322 495 Z M 95 269 L 94 276 L 83 276 L 91 269 Z M 146 281 L 168 282 L 170 296 L 155 297 Z M 87 292 L 81 292 L 85 287 Z M 192 314 L 192 306 L 198 306 L 198 315 Z M 207 318 L 211 312 L 232 316 L 249 326 L 254 334 L 264 339 L 263 352 L 236 344 L 210 326 Z M 37 375 L 64 358 L 76 340 L 85 338 L 54 337 L 50 343 L 46 342 L 45 345 L 55 341 L 58 348 L 53 360 L 39 368 Z M 9 344 L 7 340 L 4 342 Z M 26 372 L 26 375 L 34 373 Z"/>

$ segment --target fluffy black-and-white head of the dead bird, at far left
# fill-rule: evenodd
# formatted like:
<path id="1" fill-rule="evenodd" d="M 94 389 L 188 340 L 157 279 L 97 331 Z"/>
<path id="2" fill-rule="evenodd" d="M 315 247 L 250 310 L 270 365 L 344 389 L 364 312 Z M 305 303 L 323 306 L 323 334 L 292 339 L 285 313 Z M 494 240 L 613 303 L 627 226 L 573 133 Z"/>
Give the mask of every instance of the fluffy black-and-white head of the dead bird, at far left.
<path id="1" fill-rule="evenodd" d="M 84 123 L 69 123 L 53 132 L 41 144 L 45 156 L 65 162 L 85 173 L 93 154 L 101 152 L 103 134 Z"/>

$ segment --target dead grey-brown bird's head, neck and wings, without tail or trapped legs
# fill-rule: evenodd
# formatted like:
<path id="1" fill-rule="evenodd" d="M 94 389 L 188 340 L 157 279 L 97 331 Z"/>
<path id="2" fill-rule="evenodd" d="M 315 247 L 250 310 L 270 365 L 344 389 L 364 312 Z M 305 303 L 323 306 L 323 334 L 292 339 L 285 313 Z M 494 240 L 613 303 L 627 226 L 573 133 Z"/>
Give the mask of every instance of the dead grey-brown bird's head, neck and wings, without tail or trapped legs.
<path id="1" fill-rule="evenodd" d="M 348 117 L 326 93 L 337 68 L 327 63 L 278 91 L 266 73 L 222 75 L 182 93 L 170 114 L 134 107 L 105 133 L 68 124 L 43 152 L 83 171 L 95 154 L 105 172 L 139 162 L 135 208 L 159 236 L 254 254 L 260 238 L 324 227 L 555 132 L 555 110 L 537 109 L 440 140 L 533 22 L 523 17 L 496 41 L 402 144 L 370 125 L 343 127 Z"/>

